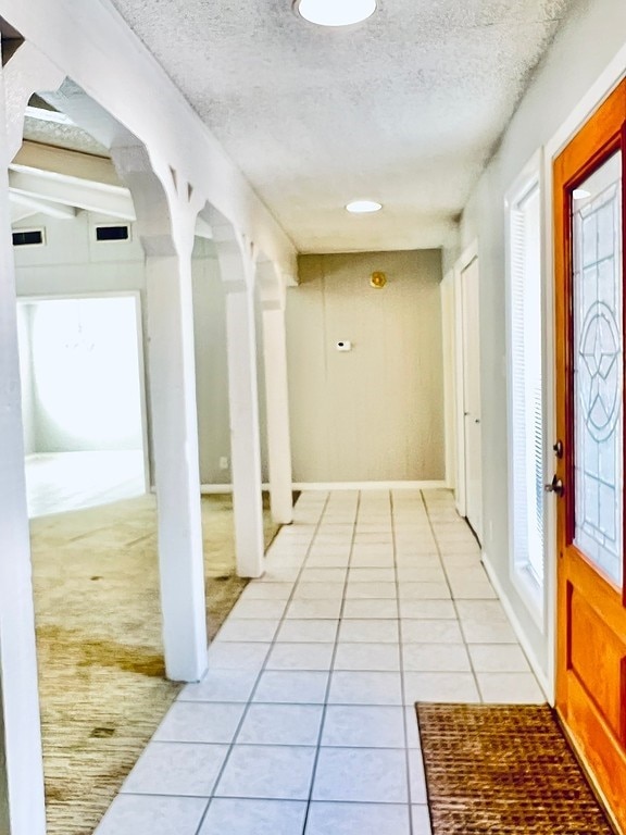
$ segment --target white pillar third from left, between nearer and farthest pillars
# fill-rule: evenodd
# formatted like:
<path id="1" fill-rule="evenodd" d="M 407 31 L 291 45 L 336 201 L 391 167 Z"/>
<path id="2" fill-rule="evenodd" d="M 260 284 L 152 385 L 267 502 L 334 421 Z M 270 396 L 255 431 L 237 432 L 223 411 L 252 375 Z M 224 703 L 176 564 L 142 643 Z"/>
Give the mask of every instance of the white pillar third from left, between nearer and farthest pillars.
<path id="1" fill-rule="evenodd" d="M 230 226 L 214 224 L 213 235 L 226 294 L 230 472 L 237 573 L 240 577 L 260 577 L 265 570 L 265 544 L 253 264 Z"/>

